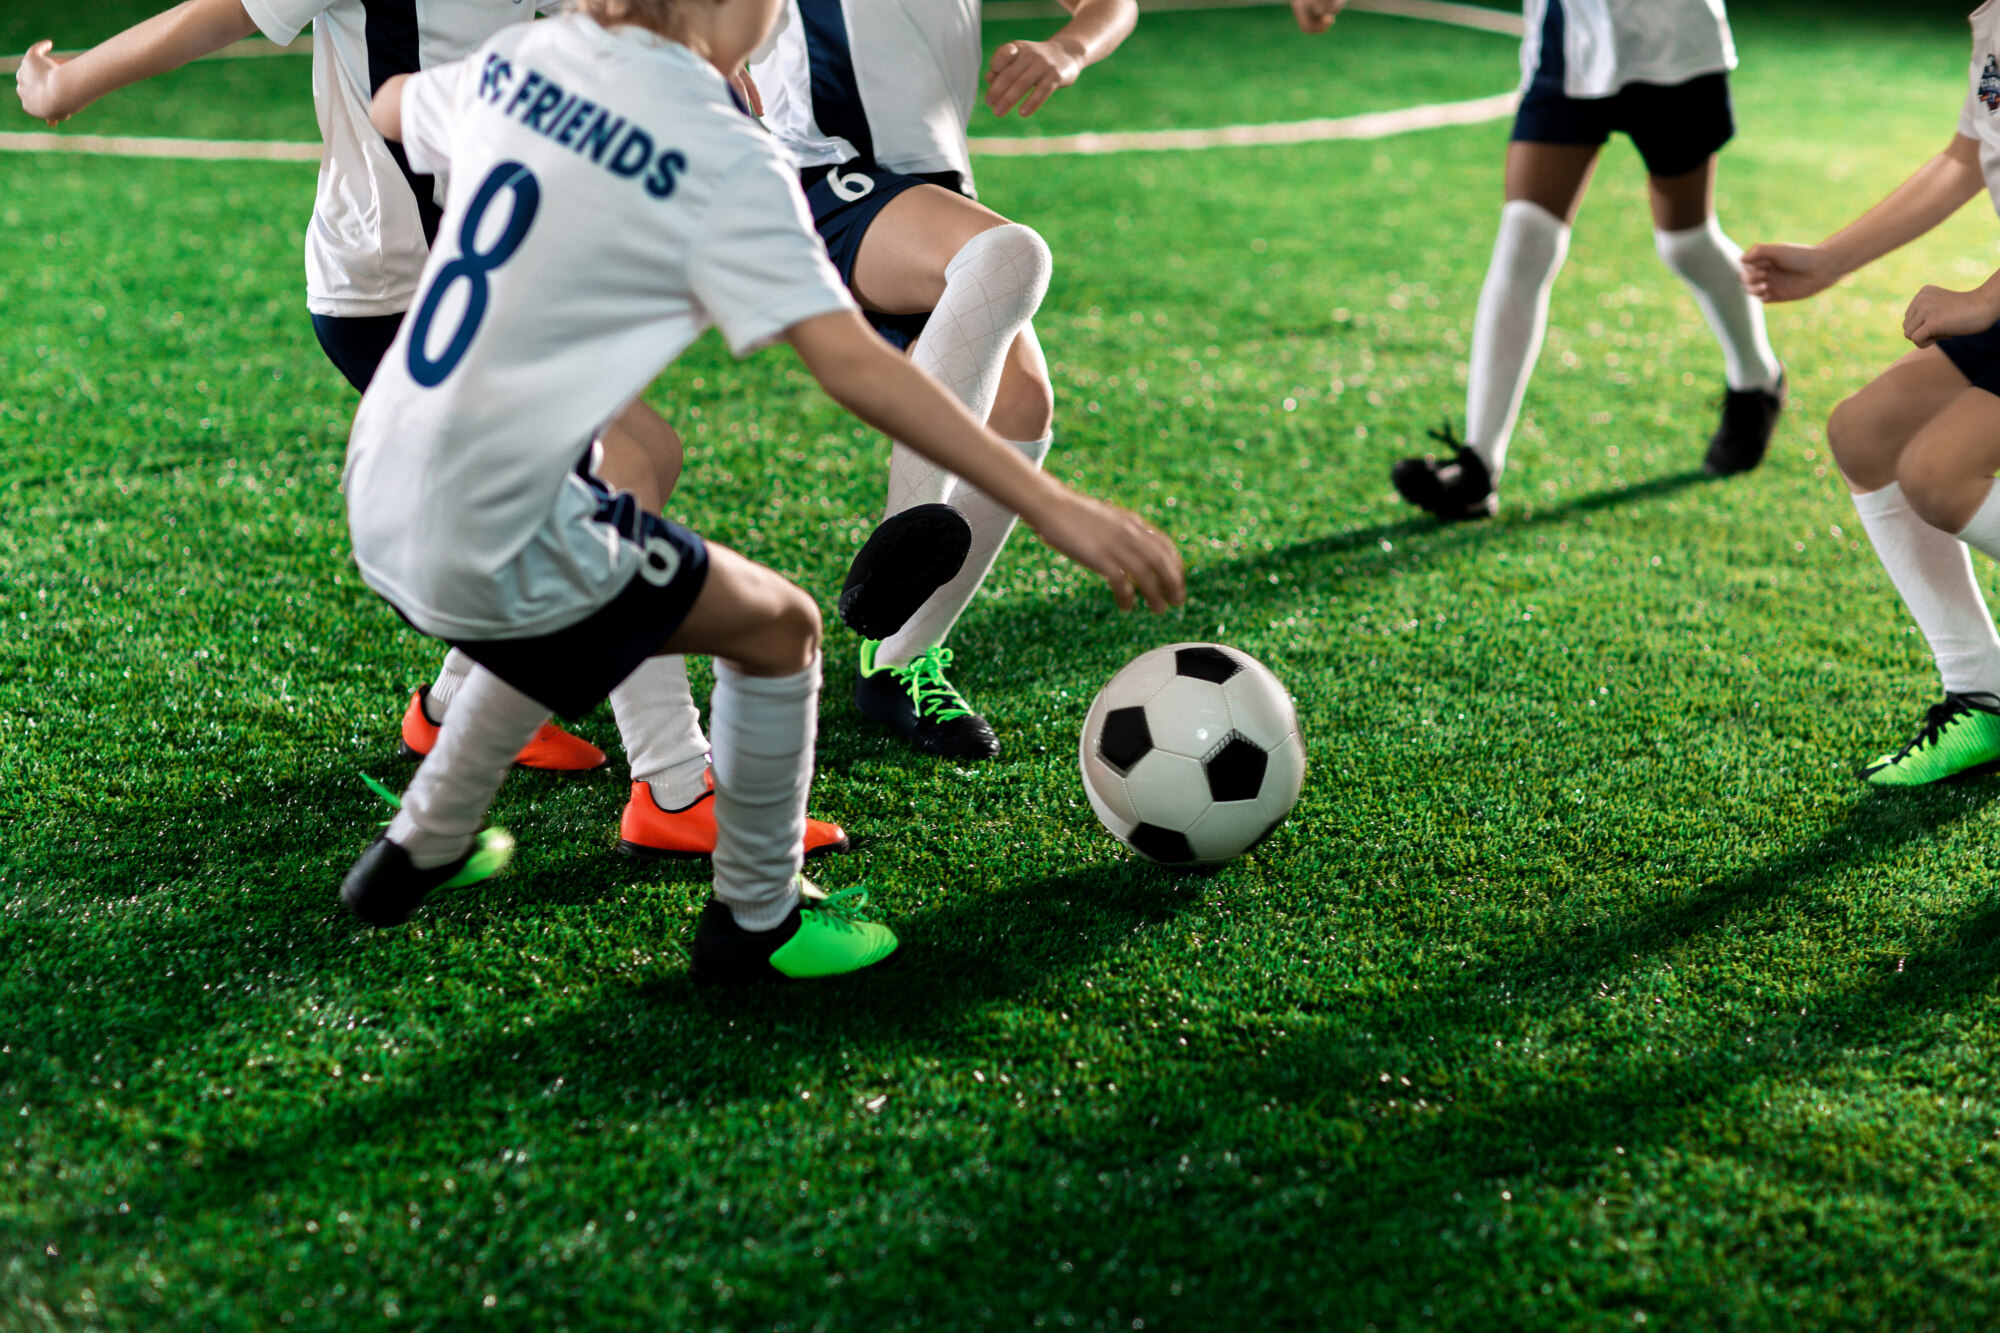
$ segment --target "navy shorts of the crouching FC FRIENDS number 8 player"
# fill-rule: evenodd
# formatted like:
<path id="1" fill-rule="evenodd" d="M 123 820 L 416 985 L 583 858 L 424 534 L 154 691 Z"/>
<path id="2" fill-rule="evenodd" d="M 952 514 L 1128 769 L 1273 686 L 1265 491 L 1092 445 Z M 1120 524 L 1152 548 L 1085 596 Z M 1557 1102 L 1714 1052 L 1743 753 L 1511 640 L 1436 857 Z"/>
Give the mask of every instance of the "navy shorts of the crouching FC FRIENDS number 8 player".
<path id="1" fill-rule="evenodd" d="M 630 494 L 606 490 L 596 520 L 646 552 L 624 592 L 584 620 L 534 638 L 452 640 L 474 662 L 564 719 L 596 709 L 654 656 L 708 582 L 708 546 L 700 534 L 642 510 Z"/>

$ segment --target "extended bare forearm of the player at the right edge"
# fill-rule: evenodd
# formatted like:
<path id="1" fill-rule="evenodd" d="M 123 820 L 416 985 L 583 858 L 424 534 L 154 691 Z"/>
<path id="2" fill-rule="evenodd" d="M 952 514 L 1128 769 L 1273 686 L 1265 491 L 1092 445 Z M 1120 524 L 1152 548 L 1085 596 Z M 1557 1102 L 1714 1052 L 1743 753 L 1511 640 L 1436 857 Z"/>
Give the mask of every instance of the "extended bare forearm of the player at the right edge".
<path id="1" fill-rule="evenodd" d="M 1956 134 L 1944 152 L 1920 166 L 1888 198 L 1820 244 L 1760 244 L 1744 250 L 1744 286 L 1768 302 L 1824 292 L 1856 268 L 1938 226 L 1984 188 L 1980 140 Z M 1990 324 L 1992 320 L 1980 328 Z"/>

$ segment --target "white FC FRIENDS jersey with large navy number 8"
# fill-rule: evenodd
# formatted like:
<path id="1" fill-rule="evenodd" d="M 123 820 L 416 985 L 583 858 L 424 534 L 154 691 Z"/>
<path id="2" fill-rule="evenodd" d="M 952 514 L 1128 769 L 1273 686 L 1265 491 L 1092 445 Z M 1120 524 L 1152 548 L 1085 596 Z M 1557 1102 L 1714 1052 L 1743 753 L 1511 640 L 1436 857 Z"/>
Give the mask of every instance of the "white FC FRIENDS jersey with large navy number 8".
<path id="1" fill-rule="evenodd" d="M 502 32 L 412 78 L 402 128 L 410 164 L 454 184 L 354 418 L 354 558 L 428 634 L 546 634 L 646 554 L 596 520 L 592 434 L 710 322 L 746 356 L 854 302 L 772 138 L 640 28 Z"/>

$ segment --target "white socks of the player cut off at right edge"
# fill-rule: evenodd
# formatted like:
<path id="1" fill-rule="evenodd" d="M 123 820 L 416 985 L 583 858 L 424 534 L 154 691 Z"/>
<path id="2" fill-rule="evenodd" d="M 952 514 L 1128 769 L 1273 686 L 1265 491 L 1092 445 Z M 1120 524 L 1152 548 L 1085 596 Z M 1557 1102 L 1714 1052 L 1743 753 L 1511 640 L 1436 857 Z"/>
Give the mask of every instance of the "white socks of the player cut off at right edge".
<path id="1" fill-rule="evenodd" d="M 1974 524 L 1988 516 L 1990 506 L 1988 494 Z M 1918 518 L 1898 482 L 1856 494 L 1854 512 L 1862 516 L 1902 604 L 1924 630 L 1946 693 L 2000 695 L 2000 634 L 1994 632 L 1966 542 Z M 1988 516 L 1988 522 L 2000 528 L 2000 520 Z"/>

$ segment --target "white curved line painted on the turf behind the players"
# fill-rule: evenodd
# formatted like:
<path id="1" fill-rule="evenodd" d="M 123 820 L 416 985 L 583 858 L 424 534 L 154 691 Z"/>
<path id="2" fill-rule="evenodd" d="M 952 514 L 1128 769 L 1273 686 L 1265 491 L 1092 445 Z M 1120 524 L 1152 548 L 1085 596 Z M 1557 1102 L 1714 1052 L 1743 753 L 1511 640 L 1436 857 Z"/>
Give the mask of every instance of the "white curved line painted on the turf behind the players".
<path id="1" fill-rule="evenodd" d="M 1142 0 L 1140 10 L 1234 10 L 1284 4 L 1284 0 Z M 1422 18 L 1482 32 L 1522 34 L 1520 14 L 1486 10 L 1450 0 L 1348 0 L 1350 10 Z M 986 18 L 1042 18 L 1066 14 L 1054 0 L 988 0 Z M 312 38 L 272 46 L 250 38 L 218 50 L 208 60 L 310 54 Z M 0 60 L 0 74 L 20 66 L 20 56 Z M 1482 124 L 1514 114 L 1518 94 L 1502 92 L 1470 102 L 1434 102 L 1360 116 L 1324 116 L 1276 124 L 1230 124 L 1216 130 L 1124 130 L 1110 134 L 1050 134 L 1044 138 L 974 138 L 972 152 L 986 158 L 1088 156 L 1102 152 L 1180 152 L 1190 148 L 1256 148 L 1268 144 L 1320 144 L 1330 140 L 1388 138 L 1416 130 Z M 200 162 L 318 162 L 320 144 L 286 144 L 226 138 L 132 138 L 114 134 L 0 132 L 0 152 L 76 152 L 120 158 L 180 158 Z"/>

